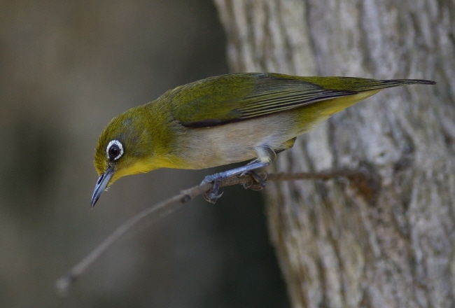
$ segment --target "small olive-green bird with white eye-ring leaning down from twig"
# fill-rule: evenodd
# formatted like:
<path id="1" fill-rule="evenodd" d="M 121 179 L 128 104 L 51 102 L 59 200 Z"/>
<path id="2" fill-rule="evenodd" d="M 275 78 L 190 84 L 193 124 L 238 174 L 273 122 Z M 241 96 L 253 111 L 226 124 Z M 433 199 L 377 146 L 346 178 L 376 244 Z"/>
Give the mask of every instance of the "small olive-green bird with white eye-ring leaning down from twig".
<path id="1" fill-rule="evenodd" d="M 92 207 L 123 176 L 160 168 L 204 169 L 251 160 L 207 176 L 205 195 L 218 197 L 217 183 L 254 173 L 276 153 L 292 148 L 298 135 L 386 87 L 434 85 L 417 79 L 301 77 L 279 73 L 232 73 L 169 90 L 148 104 L 113 118 L 99 137 L 94 167 L 99 179 Z"/>

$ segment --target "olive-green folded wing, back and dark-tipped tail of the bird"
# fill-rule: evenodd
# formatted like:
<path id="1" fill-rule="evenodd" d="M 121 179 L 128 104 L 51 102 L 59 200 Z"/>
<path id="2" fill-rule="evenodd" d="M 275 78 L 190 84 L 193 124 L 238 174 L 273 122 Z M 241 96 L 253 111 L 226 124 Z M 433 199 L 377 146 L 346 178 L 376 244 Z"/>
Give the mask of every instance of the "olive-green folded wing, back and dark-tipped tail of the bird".
<path id="1" fill-rule="evenodd" d="M 179 123 L 187 127 L 210 127 L 409 83 L 409 80 L 239 73 L 183 85 L 167 96 L 173 102 L 173 116 Z"/>

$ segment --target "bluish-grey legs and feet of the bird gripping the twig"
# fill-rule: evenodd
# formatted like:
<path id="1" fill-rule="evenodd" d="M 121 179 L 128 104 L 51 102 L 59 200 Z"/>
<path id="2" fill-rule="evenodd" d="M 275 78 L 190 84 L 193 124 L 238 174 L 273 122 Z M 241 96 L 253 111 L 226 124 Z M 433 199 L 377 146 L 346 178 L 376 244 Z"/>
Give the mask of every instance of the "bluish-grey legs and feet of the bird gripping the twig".
<path id="1" fill-rule="evenodd" d="M 211 203 L 215 203 L 216 200 L 218 200 L 219 197 L 221 197 L 222 194 L 218 195 L 218 186 L 219 182 L 222 179 L 226 179 L 230 176 L 236 176 L 238 174 L 251 174 L 253 176 L 253 179 L 259 183 L 262 188 L 265 187 L 265 179 L 262 179 L 258 174 L 256 174 L 253 170 L 259 169 L 262 167 L 266 167 L 270 165 L 270 163 L 276 158 L 276 153 L 272 150 L 272 148 L 269 148 L 268 146 L 261 146 L 255 149 L 256 153 L 258 153 L 258 158 L 255 160 L 252 160 L 249 162 L 247 165 L 244 165 L 242 167 L 238 167 L 235 169 L 230 169 L 225 172 L 220 172 L 217 174 L 212 174 L 211 176 L 206 176 L 204 181 L 202 181 L 201 184 L 204 183 L 210 183 L 214 182 L 214 186 L 211 188 L 209 193 L 204 194 L 205 200 Z M 250 184 L 252 186 L 252 184 Z"/>

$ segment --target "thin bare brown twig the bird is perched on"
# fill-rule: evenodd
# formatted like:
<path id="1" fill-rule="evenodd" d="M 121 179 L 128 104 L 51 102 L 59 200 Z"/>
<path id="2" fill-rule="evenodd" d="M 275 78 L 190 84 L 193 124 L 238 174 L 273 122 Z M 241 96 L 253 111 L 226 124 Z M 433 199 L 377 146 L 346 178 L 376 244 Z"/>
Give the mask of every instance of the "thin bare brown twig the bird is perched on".
<path id="1" fill-rule="evenodd" d="M 365 174 L 359 173 L 358 170 L 349 170 L 349 169 L 341 169 L 336 171 L 330 172 L 317 172 L 317 173 L 298 173 L 298 174 L 260 174 L 260 176 L 267 176 L 267 181 L 295 181 L 295 180 L 303 180 L 303 179 L 333 179 L 339 176 L 344 176 L 348 179 L 352 179 L 353 177 L 363 177 L 363 179 L 367 179 Z M 244 184 L 244 183 L 251 183 L 253 178 L 250 175 L 245 175 L 241 177 L 232 176 L 228 179 L 223 179 L 220 181 L 220 187 L 225 186 L 232 186 L 236 184 Z M 204 183 L 198 186 L 194 186 L 193 188 L 189 188 L 187 190 L 182 190 L 179 195 L 175 195 L 167 200 L 164 200 L 158 204 L 153 204 L 151 207 L 144 209 L 139 214 L 133 216 L 132 218 L 128 219 L 120 225 L 114 232 L 109 235 L 101 244 L 94 248 L 92 252 L 90 252 L 83 260 L 80 260 L 78 264 L 76 264 L 68 274 L 60 277 L 57 279 L 55 286 L 59 293 L 62 295 L 66 294 L 69 286 L 71 283 L 76 281 L 80 274 L 83 274 L 87 268 L 89 268 L 99 257 L 105 253 L 112 244 L 114 244 L 120 237 L 122 237 L 130 228 L 134 225 L 139 223 L 143 218 L 151 214 L 159 213 L 160 216 L 166 216 L 171 214 L 176 209 L 179 209 L 184 203 L 193 200 L 194 197 L 198 195 L 202 195 L 203 193 L 207 192 L 211 189 L 212 183 Z M 163 211 L 163 212 L 160 212 Z"/>

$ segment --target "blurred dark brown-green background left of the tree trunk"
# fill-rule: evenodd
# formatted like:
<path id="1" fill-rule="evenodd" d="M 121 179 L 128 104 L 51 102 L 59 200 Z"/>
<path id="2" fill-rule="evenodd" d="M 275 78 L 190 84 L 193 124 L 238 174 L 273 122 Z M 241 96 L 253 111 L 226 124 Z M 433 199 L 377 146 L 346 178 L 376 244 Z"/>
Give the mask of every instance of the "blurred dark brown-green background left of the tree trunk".
<path id="1" fill-rule="evenodd" d="M 0 307 L 288 307 L 261 195 L 241 187 L 135 228 L 54 289 L 120 223 L 216 172 L 126 177 L 91 210 L 104 126 L 227 72 L 209 0 L 0 1 Z"/>

